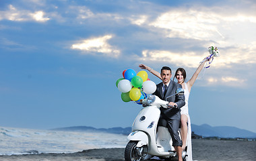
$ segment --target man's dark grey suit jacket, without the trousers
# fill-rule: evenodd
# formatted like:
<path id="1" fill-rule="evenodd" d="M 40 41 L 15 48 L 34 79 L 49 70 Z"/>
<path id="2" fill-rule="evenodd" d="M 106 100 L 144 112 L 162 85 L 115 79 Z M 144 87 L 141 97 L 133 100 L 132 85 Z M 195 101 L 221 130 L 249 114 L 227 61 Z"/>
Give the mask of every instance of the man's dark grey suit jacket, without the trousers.
<path id="1" fill-rule="evenodd" d="M 166 97 L 173 95 L 176 93 L 177 89 L 182 88 L 182 86 L 172 80 L 170 80 L 169 87 L 166 91 L 166 95 L 164 97 L 164 93 L 162 91 L 162 83 L 159 83 L 156 85 L 156 91 L 153 93 L 153 95 L 157 95 L 160 99 L 166 100 Z M 178 108 L 168 108 L 165 109 L 163 107 L 160 108 L 161 115 L 165 115 L 169 119 L 181 119 L 181 107 L 185 105 L 185 96 L 184 95 L 174 95 L 172 97 L 169 97 L 167 99 L 168 102 L 174 102 L 177 103 Z"/>

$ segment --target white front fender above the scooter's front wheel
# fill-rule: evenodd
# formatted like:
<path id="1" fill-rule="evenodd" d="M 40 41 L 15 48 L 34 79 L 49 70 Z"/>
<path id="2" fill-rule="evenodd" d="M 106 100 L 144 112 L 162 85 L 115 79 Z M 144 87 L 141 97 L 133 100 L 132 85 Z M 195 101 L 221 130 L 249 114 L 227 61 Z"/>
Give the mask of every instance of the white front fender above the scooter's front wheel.
<path id="1" fill-rule="evenodd" d="M 133 131 L 127 136 L 128 140 L 139 141 L 137 147 L 148 145 L 148 135 L 143 131 Z"/>

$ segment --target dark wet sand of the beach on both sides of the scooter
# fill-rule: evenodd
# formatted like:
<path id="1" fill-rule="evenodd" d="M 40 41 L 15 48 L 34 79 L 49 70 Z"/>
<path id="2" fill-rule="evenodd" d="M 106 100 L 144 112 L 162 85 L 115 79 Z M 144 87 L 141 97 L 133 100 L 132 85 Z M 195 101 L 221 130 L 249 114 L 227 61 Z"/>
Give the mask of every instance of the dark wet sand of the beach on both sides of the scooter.
<path id="1" fill-rule="evenodd" d="M 256 158 L 256 142 L 226 140 L 192 140 L 193 160 L 198 161 L 253 161 Z M 120 161 L 125 160 L 125 148 L 104 148 L 84 150 L 68 154 L 28 154 L 0 156 L 0 161 L 20 160 L 89 160 L 89 161 Z M 152 161 L 152 160 L 151 160 Z"/>

